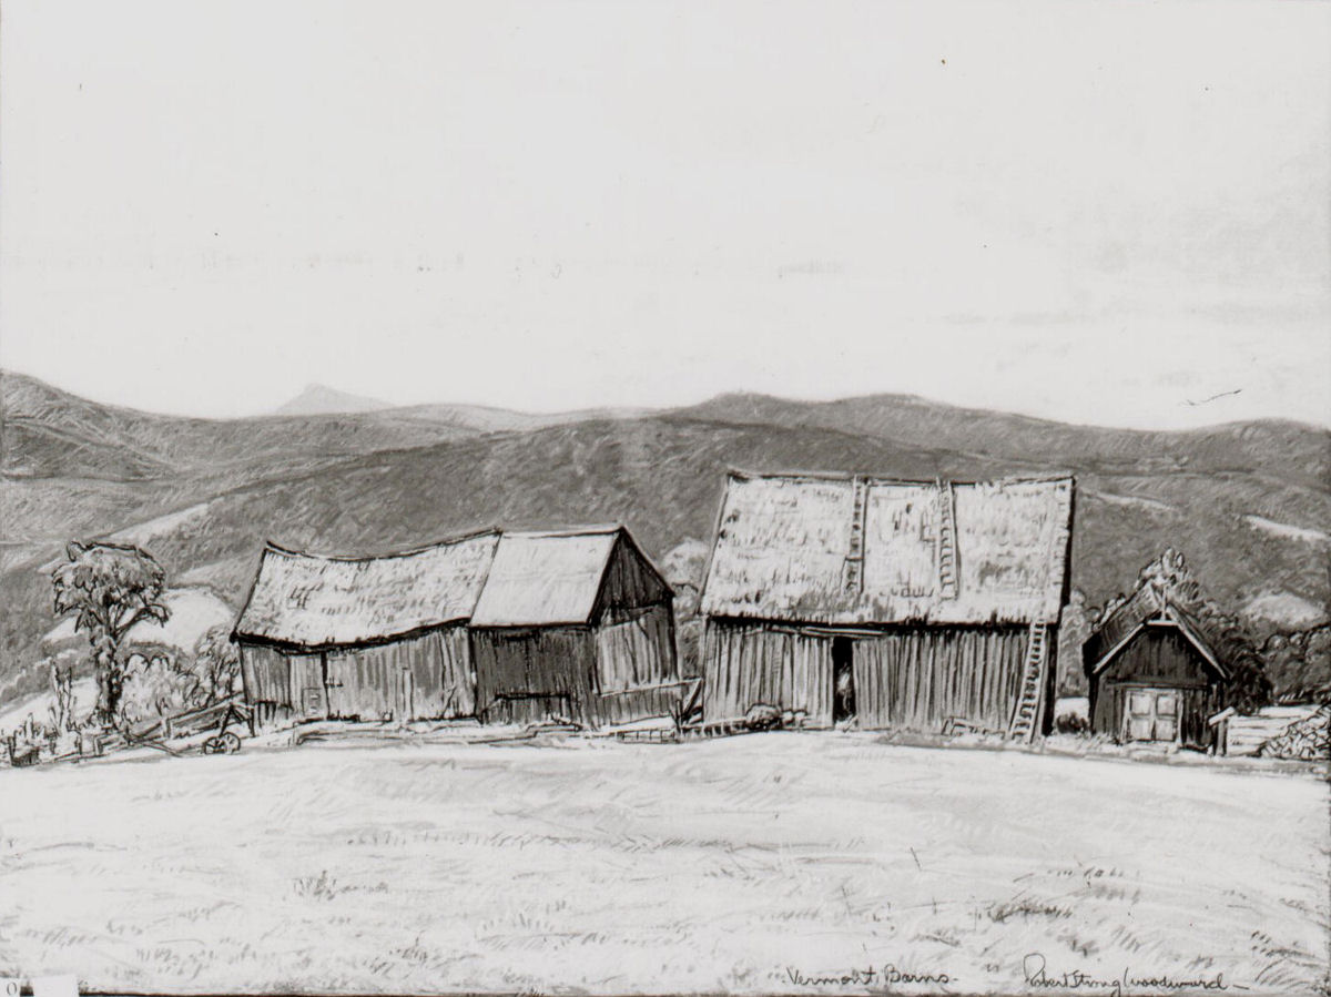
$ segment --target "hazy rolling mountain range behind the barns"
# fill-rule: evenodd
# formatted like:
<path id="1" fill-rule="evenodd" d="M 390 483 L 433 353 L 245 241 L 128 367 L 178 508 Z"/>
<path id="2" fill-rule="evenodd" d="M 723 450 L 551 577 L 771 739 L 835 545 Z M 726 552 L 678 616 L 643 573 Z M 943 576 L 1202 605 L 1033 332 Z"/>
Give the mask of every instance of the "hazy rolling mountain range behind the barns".
<path id="1" fill-rule="evenodd" d="M 97 405 L 20 374 L 0 374 L 0 701 L 5 676 L 36 682 L 16 676 L 52 627 L 40 568 L 71 538 L 140 543 L 173 583 L 238 607 L 265 539 L 375 552 L 488 524 L 619 520 L 663 558 L 709 538 L 728 467 L 1073 471 L 1073 584 L 1091 604 L 1165 546 L 1267 632 L 1326 619 L 1331 599 L 1331 433 L 1292 422 L 1141 433 L 901 395 L 534 415 L 369 409 L 323 389 L 297 402 L 361 407 L 218 421 Z"/>

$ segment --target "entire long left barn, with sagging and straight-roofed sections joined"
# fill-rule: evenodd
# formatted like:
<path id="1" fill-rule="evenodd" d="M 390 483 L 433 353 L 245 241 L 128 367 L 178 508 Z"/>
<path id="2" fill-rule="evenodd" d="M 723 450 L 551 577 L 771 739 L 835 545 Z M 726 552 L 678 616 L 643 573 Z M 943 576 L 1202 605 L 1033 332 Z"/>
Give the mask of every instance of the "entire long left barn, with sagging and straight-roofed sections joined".
<path id="1" fill-rule="evenodd" d="M 622 527 L 491 530 L 375 558 L 268 544 L 233 639 L 265 724 L 595 727 L 681 696 L 672 596 Z"/>

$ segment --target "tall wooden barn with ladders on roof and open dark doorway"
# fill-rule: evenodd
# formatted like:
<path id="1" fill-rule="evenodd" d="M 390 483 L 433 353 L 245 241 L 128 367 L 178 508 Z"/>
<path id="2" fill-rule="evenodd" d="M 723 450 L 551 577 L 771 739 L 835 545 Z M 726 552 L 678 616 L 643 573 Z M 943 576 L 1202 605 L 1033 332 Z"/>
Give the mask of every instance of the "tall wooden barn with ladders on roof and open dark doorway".
<path id="1" fill-rule="evenodd" d="M 1053 719 L 1073 479 L 731 474 L 703 586 L 704 720 L 984 729 Z"/>

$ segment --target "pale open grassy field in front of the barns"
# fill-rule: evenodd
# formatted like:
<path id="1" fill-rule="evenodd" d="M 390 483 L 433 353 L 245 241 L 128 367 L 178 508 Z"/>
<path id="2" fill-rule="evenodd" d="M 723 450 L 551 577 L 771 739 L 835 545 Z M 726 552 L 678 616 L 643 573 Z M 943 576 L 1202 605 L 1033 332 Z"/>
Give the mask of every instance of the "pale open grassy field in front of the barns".
<path id="1" fill-rule="evenodd" d="M 905 993 L 1306 994 L 1327 972 L 1311 769 L 836 733 L 250 745 L 8 771 L 0 800 L 0 976 L 100 989 L 843 993 L 892 965 L 946 974 Z"/>

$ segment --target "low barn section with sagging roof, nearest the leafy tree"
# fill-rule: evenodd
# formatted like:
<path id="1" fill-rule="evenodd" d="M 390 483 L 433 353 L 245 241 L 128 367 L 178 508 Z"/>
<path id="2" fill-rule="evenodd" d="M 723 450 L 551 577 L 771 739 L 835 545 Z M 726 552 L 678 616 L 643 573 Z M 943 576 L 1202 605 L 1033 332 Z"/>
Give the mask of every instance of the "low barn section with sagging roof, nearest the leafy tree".
<path id="1" fill-rule="evenodd" d="M 470 716 L 467 620 L 498 544 L 498 530 L 377 558 L 268 544 L 232 634 L 258 721 Z"/>

